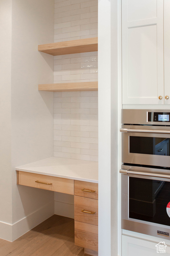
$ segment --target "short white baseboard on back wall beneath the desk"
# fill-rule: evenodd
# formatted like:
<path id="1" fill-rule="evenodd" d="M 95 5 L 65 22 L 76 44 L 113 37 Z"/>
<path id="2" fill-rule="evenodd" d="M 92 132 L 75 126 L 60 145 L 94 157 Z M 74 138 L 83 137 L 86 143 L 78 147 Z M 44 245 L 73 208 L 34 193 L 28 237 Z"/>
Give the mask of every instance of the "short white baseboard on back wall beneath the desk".
<path id="1" fill-rule="evenodd" d="M 54 201 L 54 214 L 74 219 L 74 204 Z"/>

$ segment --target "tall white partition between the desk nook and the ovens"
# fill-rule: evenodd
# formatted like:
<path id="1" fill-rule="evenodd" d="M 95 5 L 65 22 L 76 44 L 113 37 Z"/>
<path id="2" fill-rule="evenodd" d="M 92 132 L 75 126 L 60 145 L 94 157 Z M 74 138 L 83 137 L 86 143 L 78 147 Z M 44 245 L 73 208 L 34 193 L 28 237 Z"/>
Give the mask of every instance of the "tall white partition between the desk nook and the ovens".
<path id="1" fill-rule="evenodd" d="M 117 10 L 116 0 L 99 0 L 99 256 L 118 255 Z"/>

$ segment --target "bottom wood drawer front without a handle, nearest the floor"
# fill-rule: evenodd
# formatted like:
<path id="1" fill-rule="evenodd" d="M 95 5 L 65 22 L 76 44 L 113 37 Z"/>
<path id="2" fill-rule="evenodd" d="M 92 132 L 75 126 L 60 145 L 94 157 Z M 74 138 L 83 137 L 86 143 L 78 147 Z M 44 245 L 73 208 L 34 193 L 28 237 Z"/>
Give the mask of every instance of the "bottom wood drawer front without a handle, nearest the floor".
<path id="1" fill-rule="evenodd" d="M 98 226 L 74 221 L 75 244 L 98 251 Z"/>

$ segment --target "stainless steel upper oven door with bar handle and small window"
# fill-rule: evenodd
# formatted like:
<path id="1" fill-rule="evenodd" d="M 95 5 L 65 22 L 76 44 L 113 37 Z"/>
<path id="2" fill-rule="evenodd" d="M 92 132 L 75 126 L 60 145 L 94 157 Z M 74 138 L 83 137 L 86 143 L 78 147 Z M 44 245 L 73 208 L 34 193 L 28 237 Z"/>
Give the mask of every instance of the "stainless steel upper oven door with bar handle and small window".
<path id="1" fill-rule="evenodd" d="M 122 127 L 122 163 L 170 167 L 170 127 Z"/>

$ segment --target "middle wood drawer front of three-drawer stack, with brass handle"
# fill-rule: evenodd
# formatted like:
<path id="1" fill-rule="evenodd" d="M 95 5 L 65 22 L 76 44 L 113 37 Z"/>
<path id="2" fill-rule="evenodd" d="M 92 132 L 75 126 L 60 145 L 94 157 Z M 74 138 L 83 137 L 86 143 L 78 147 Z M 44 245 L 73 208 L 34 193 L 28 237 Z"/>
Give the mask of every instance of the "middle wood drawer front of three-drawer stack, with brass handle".
<path id="1" fill-rule="evenodd" d="M 87 213 L 82 212 L 82 210 L 95 212 Z M 98 200 L 81 197 L 81 196 L 74 196 L 74 219 L 77 221 L 98 225 Z"/>

